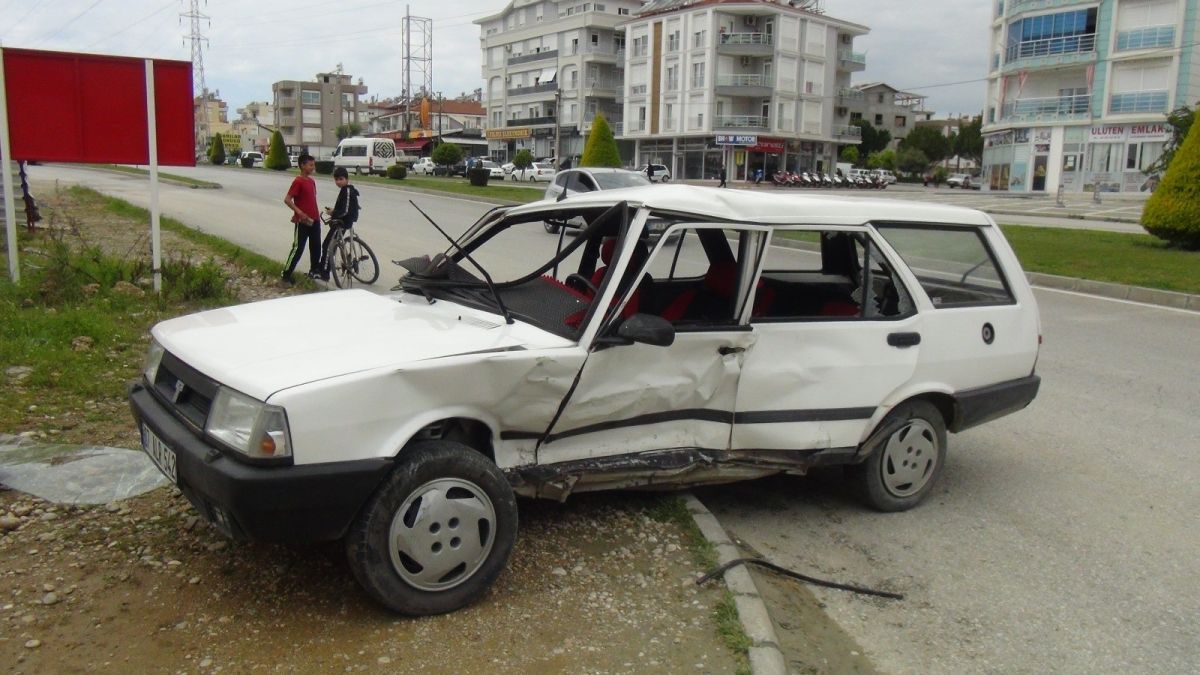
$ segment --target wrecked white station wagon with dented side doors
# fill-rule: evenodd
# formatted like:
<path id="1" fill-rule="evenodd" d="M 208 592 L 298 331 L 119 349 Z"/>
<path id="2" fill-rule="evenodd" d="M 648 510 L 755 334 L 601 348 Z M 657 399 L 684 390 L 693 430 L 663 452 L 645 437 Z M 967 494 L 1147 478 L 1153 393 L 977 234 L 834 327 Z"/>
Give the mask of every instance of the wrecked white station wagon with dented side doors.
<path id="1" fill-rule="evenodd" d="M 539 237 L 582 219 L 578 237 Z M 672 237 L 647 237 L 662 220 Z M 527 251 L 515 259 L 512 251 Z M 154 330 L 145 452 L 227 536 L 344 540 L 362 587 L 458 609 L 504 568 L 515 496 L 846 465 L 868 504 L 934 488 L 947 432 L 1027 406 L 1040 324 L 964 208 L 685 185 L 499 208 L 341 291 Z"/>

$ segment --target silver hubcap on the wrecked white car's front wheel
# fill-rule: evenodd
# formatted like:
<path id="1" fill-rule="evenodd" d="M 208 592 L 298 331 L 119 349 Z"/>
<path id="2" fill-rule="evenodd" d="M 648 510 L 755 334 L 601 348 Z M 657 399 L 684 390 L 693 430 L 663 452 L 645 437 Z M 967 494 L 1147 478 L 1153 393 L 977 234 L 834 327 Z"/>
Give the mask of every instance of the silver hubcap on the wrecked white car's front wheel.
<path id="1" fill-rule="evenodd" d="M 421 591 L 444 591 L 469 579 L 496 542 L 496 509 L 479 485 L 430 480 L 413 491 L 388 531 L 391 565 Z"/>

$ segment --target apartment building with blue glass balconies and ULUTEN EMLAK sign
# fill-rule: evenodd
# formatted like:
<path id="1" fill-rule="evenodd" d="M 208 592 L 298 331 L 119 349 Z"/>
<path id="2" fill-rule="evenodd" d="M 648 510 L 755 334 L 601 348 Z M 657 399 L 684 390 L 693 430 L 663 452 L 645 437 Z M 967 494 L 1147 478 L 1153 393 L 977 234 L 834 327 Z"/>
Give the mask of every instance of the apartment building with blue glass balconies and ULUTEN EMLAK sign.
<path id="1" fill-rule="evenodd" d="M 1200 97 L 1200 0 L 994 5 L 984 185 L 1148 191 L 1166 113 Z"/>

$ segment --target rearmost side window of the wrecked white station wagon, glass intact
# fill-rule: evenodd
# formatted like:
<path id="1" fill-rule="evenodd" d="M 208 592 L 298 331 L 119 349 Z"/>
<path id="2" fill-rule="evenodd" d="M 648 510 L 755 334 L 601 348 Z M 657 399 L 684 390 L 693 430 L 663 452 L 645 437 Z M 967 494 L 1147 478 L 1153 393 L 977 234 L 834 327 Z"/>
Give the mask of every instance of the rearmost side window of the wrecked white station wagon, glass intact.
<path id="1" fill-rule="evenodd" d="M 877 225 L 935 307 L 1012 304 L 1013 292 L 974 227 Z"/>

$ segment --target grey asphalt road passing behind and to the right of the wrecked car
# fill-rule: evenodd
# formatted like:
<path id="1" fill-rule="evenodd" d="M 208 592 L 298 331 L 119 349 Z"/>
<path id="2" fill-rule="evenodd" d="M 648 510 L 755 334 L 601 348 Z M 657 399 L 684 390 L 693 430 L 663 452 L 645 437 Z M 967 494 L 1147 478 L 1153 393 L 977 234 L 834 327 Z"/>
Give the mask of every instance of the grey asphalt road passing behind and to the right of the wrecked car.
<path id="1" fill-rule="evenodd" d="M 166 215 L 282 261 L 290 175 L 176 173 L 226 187 L 164 185 Z M 149 202 L 144 179 L 67 167 L 34 175 L 48 178 Z M 380 289 L 398 276 L 385 261 L 444 249 L 408 198 L 451 234 L 488 208 L 360 189 L 358 229 L 384 261 Z M 334 195 L 323 178 L 320 203 Z M 517 237 L 512 259 L 540 246 L 548 252 L 553 238 Z M 1038 298 L 1039 398 L 950 436 L 942 482 L 922 507 L 864 510 L 836 471 L 701 497 L 775 562 L 906 593 L 889 602 L 815 591 L 883 671 L 1200 671 L 1200 315 L 1050 291 Z"/>

